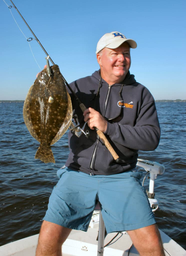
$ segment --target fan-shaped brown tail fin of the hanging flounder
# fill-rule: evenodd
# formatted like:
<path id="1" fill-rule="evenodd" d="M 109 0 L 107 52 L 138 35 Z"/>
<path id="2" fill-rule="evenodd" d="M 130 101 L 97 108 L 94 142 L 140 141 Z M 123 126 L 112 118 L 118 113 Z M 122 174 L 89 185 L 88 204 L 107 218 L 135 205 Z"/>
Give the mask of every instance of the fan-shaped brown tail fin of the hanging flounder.
<path id="1" fill-rule="evenodd" d="M 42 147 L 40 145 L 36 152 L 35 159 L 40 159 L 41 161 L 43 161 L 46 164 L 47 163 L 55 163 L 55 159 L 54 159 L 54 156 L 53 156 L 50 146 Z"/>

